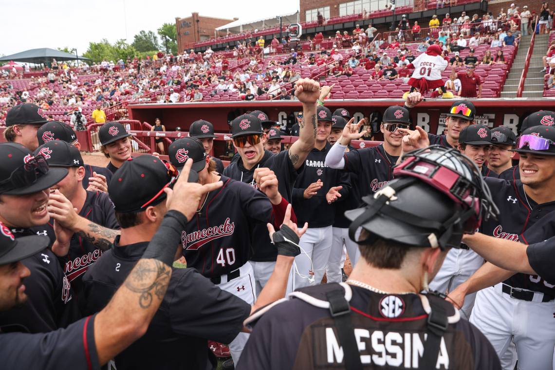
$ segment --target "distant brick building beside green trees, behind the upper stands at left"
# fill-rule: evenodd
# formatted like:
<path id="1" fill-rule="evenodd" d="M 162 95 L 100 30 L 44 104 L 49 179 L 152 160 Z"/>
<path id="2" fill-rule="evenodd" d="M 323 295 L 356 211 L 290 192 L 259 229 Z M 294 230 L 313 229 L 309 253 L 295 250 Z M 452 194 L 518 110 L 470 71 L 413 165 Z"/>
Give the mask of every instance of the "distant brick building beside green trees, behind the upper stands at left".
<path id="1" fill-rule="evenodd" d="M 191 13 L 190 17 L 175 17 L 175 27 L 177 28 L 177 47 L 178 52 L 182 53 L 185 48 L 197 41 L 214 38 L 215 29 L 224 26 L 238 18 L 224 19 L 214 17 L 199 16 L 199 13 Z"/>

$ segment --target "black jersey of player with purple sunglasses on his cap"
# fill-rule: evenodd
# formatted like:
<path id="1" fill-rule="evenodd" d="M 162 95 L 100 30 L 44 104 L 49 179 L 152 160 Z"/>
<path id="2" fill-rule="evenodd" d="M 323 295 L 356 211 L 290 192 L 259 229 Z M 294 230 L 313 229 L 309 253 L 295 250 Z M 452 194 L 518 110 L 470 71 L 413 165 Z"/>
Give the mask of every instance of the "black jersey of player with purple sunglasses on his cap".
<path id="1" fill-rule="evenodd" d="M 524 192 L 520 180 L 506 181 L 495 178 L 485 178 L 484 180 L 490 186 L 493 201 L 499 207 L 499 216 L 498 220 L 490 219 L 482 222 L 481 232 L 483 234 L 524 242 L 520 240 L 519 235 L 542 217 L 548 216 L 549 212 L 555 210 L 555 201 L 537 204 L 530 199 Z M 544 239 L 547 239 L 547 236 Z M 516 273 L 504 283 L 515 288 L 542 292 L 555 297 L 555 286 L 536 275 Z"/>

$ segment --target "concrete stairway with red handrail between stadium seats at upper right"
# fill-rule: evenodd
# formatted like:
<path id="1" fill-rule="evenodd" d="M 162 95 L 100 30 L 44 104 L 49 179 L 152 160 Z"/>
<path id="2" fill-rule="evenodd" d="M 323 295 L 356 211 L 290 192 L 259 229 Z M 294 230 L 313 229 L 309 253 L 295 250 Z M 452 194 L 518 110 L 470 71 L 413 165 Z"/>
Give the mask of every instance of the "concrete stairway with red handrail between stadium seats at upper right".
<path id="1" fill-rule="evenodd" d="M 531 39 L 532 36 L 522 37 L 522 43 L 518 47 L 517 57 L 513 60 L 511 72 L 509 72 L 501 92 L 501 98 L 515 98 L 517 96 L 518 83 L 520 82 L 522 69 L 526 62 L 526 54 L 528 53 Z M 543 96 L 543 75 L 545 73 L 539 71 L 543 68 L 542 57 L 547 52 L 548 39 L 548 34 L 536 35 L 532 58 L 530 59 L 528 73 L 524 81 L 523 98 L 538 98 Z"/>

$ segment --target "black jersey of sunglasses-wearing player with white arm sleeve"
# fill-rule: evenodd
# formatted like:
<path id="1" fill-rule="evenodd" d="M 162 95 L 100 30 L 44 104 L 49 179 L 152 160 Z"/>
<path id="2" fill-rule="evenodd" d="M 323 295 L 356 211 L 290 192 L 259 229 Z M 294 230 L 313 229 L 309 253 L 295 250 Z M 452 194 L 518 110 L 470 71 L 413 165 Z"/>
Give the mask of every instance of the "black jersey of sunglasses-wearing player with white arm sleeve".
<path id="1" fill-rule="evenodd" d="M 352 150 L 343 157 L 345 170 L 359 176 L 357 185 L 361 197 L 376 192 L 393 179 L 393 166 L 398 159 L 398 156 L 387 154 L 383 144 Z"/>

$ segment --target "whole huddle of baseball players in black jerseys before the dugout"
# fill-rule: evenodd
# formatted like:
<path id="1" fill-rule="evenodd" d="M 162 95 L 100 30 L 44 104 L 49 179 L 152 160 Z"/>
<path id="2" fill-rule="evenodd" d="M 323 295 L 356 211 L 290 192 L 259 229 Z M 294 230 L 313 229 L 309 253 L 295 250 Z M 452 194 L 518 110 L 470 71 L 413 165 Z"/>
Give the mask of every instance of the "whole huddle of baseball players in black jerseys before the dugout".
<path id="1" fill-rule="evenodd" d="M 168 161 L 105 123 L 103 168 L 69 125 L 12 108 L 2 367 L 205 370 L 229 346 L 237 369 L 552 369 L 555 113 L 517 136 L 457 100 L 433 135 L 412 92 L 355 149 L 364 121 L 325 107 L 330 89 L 296 82 L 285 150 L 262 111 L 235 118 L 225 168 L 205 120 Z"/>

